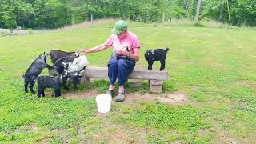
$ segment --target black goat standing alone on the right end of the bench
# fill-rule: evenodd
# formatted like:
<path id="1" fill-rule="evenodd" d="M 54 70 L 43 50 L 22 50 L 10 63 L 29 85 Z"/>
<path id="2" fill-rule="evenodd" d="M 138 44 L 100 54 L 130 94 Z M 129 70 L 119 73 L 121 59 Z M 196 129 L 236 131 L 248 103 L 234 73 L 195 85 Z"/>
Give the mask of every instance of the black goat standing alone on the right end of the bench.
<path id="1" fill-rule="evenodd" d="M 161 67 L 160 71 L 165 69 L 166 66 L 166 54 L 169 48 L 164 49 L 155 49 L 155 50 L 146 50 L 145 59 L 148 62 L 148 70 L 152 70 L 152 65 L 154 61 L 160 61 Z"/>

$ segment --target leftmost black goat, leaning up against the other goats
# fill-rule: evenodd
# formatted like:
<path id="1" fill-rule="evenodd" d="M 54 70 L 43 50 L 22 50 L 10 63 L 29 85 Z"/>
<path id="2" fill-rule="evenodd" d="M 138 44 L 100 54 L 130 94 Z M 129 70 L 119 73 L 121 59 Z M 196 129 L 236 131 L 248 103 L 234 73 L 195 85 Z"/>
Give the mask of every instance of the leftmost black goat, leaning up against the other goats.
<path id="1" fill-rule="evenodd" d="M 31 93 L 35 93 L 33 90 L 34 83 L 36 79 L 38 78 L 38 75 L 42 72 L 42 70 L 48 66 L 46 63 L 46 54 L 43 55 L 40 54 L 38 58 L 34 60 L 34 62 L 30 65 L 28 70 L 26 70 L 26 73 L 22 76 L 24 78 L 24 86 L 25 86 L 25 92 L 27 93 L 27 86 L 30 85 L 30 91 Z"/>

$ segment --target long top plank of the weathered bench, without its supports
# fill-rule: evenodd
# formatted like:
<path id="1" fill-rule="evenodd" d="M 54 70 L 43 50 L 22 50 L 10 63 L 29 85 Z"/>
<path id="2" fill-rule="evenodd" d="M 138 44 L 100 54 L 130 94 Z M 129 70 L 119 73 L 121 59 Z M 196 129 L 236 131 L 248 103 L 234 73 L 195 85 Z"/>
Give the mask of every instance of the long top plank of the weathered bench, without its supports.
<path id="1" fill-rule="evenodd" d="M 83 72 L 83 77 L 85 78 L 108 78 L 108 68 L 107 67 L 86 67 Z M 144 80 L 158 80 L 166 81 L 169 79 L 168 72 L 166 70 L 139 70 L 134 69 L 134 71 L 128 76 L 129 79 L 144 79 Z"/>

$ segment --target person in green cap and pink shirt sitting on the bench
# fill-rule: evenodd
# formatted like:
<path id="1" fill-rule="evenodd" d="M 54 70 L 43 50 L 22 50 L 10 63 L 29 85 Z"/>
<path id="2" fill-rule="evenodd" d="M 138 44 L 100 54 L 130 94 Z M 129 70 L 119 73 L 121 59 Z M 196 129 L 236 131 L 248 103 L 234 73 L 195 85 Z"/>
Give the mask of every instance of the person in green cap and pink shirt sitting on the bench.
<path id="1" fill-rule="evenodd" d="M 126 98 L 124 84 L 128 74 L 134 70 L 136 61 L 139 60 L 140 42 L 137 36 L 127 30 L 128 24 L 124 21 L 115 23 L 112 35 L 102 45 L 95 46 L 88 50 L 80 49 L 79 54 L 96 53 L 113 47 L 110 61 L 108 62 L 108 77 L 110 78 L 109 90 L 106 94 L 114 96 L 114 82 L 118 78 L 118 96 L 116 102 L 123 102 Z"/>

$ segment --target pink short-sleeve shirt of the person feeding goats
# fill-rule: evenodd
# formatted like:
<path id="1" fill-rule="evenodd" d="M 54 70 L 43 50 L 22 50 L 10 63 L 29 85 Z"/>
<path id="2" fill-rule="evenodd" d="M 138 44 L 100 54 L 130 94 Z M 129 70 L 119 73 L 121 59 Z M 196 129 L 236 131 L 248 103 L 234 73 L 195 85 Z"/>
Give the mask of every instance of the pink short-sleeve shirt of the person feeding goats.
<path id="1" fill-rule="evenodd" d="M 135 34 L 128 31 L 126 37 L 119 39 L 117 35 L 112 34 L 105 43 L 107 46 L 113 46 L 113 50 L 125 50 L 124 47 L 128 46 L 130 52 L 134 53 L 134 48 L 140 48 L 140 42 Z"/>

